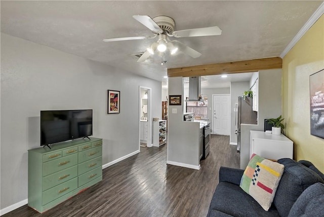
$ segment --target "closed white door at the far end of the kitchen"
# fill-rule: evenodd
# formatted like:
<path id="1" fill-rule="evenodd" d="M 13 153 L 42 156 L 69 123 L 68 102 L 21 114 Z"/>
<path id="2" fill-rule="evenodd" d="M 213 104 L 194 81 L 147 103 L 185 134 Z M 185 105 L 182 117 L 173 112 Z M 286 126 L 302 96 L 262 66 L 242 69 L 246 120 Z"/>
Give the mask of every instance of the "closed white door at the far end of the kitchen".
<path id="1" fill-rule="evenodd" d="M 230 134 L 230 95 L 213 95 L 213 134 Z"/>

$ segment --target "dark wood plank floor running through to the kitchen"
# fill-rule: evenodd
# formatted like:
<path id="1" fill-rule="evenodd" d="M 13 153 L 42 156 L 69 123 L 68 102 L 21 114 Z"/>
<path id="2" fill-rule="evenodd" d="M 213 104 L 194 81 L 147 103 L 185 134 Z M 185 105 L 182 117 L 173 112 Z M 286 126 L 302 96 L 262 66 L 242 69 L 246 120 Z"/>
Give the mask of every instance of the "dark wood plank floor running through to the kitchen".
<path id="1" fill-rule="evenodd" d="M 239 168 L 229 136 L 212 135 L 200 170 L 167 165 L 167 146 L 103 170 L 102 182 L 41 214 L 27 205 L 3 216 L 206 216 L 220 166 Z"/>

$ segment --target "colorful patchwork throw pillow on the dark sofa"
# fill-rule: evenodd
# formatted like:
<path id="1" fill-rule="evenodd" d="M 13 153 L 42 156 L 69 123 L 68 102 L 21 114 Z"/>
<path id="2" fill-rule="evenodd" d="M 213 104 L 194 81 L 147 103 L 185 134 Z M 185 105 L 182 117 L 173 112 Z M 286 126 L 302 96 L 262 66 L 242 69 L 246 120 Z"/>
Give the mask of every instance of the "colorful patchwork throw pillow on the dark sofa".
<path id="1" fill-rule="evenodd" d="M 253 154 L 239 186 L 268 211 L 283 172 L 284 165 Z"/>

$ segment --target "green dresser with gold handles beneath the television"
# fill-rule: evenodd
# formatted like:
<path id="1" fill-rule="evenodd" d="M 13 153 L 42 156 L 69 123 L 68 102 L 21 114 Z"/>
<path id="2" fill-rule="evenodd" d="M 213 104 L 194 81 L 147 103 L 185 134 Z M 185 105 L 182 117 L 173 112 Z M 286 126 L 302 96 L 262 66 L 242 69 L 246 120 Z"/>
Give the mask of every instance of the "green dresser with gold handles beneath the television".
<path id="1" fill-rule="evenodd" d="M 76 139 L 28 150 L 28 206 L 56 206 L 102 180 L 102 139 Z"/>

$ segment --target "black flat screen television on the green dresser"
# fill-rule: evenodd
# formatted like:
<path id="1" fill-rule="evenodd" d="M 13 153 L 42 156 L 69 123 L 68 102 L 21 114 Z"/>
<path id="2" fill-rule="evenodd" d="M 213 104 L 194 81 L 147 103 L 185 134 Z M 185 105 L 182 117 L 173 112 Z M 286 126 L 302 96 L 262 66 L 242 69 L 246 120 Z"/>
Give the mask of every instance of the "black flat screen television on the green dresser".
<path id="1" fill-rule="evenodd" d="M 41 111 L 41 146 L 91 135 L 92 110 Z"/>

